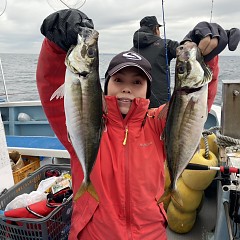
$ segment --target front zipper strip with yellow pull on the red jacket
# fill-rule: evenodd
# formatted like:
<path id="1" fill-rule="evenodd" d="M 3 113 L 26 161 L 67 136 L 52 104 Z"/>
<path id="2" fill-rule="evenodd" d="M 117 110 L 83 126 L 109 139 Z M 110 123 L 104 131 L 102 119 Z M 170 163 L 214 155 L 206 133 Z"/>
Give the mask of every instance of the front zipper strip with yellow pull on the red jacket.
<path id="1" fill-rule="evenodd" d="M 125 146 L 125 207 L 126 207 L 126 227 L 127 227 L 127 236 L 128 239 L 132 239 L 132 231 L 131 231 L 131 203 L 130 203 L 130 182 L 129 182 L 129 174 L 130 174 L 130 162 L 129 162 L 129 145 L 127 144 L 128 140 L 128 126 L 125 126 L 125 136 L 123 140 L 123 145 Z"/>

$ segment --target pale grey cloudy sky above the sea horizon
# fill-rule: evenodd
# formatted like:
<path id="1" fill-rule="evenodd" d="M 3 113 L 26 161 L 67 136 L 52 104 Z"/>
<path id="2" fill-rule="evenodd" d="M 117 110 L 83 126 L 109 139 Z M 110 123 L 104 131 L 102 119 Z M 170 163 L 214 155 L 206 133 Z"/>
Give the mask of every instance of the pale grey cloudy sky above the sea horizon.
<path id="1" fill-rule="evenodd" d="M 5 1 L 7 8 L 0 16 L 0 53 L 39 53 L 43 40 L 40 26 L 45 17 L 64 8 L 61 0 L 0 0 L 0 12 Z M 65 0 L 73 4 L 83 1 Z M 198 22 L 210 21 L 211 8 L 212 0 L 165 0 L 166 37 L 181 41 Z M 86 0 L 80 10 L 93 19 L 100 33 L 100 53 L 131 48 L 133 33 L 144 16 L 155 15 L 163 23 L 162 0 Z M 214 0 L 212 22 L 224 29 L 239 28 L 240 0 Z M 240 56 L 240 46 L 222 55 Z"/>

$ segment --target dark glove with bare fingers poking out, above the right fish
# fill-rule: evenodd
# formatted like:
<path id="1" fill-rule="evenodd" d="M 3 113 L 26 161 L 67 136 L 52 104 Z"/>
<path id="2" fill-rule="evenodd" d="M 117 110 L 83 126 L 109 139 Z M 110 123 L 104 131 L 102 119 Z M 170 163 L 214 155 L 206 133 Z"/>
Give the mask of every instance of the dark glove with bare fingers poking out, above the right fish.
<path id="1" fill-rule="evenodd" d="M 204 56 L 205 61 L 210 61 L 222 52 L 227 45 L 230 51 L 234 51 L 237 48 L 240 41 L 240 30 L 238 28 L 224 30 L 217 23 L 200 22 L 185 36 L 181 44 L 186 41 L 192 41 L 198 45 L 207 36 L 218 38 L 218 46 L 208 55 Z"/>

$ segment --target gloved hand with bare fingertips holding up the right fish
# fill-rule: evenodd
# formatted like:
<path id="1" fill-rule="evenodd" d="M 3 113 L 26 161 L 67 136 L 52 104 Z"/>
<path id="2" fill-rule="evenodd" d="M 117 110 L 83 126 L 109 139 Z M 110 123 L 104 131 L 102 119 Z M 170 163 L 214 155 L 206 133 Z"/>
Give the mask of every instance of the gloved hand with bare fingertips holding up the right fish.
<path id="1" fill-rule="evenodd" d="M 190 31 L 183 41 L 193 41 L 201 49 L 205 61 L 210 61 L 228 45 L 234 51 L 240 41 L 240 30 L 232 28 L 224 30 L 217 23 L 200 22 Z"/>

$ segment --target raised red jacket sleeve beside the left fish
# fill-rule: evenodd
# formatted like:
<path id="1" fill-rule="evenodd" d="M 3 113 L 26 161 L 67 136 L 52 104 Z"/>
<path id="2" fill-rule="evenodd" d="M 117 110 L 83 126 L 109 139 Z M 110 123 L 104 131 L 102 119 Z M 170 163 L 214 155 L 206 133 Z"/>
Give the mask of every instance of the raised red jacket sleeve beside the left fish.
<path id="1" fill-rule="evenodd" d="M 78 172 L 78 174 L 72 174 L 73 191 L 75 192 L 77 190 L 76 187 L 81 184 L 82 171 L 80 162 L 67 137 L 64 102 L 63 99 L 50 101 L 53 92 L 65 81 L 65 57 L 65 51 L 45 38 L 39 54 L 36 80 L 40 100 L 48 121 L 56 136 L 71 156 L 72 172 L 73 170 Z M 75 179 L 76 177 L 77 179 Z M 78 186 L 75 187 L 76 184 Z"/>

